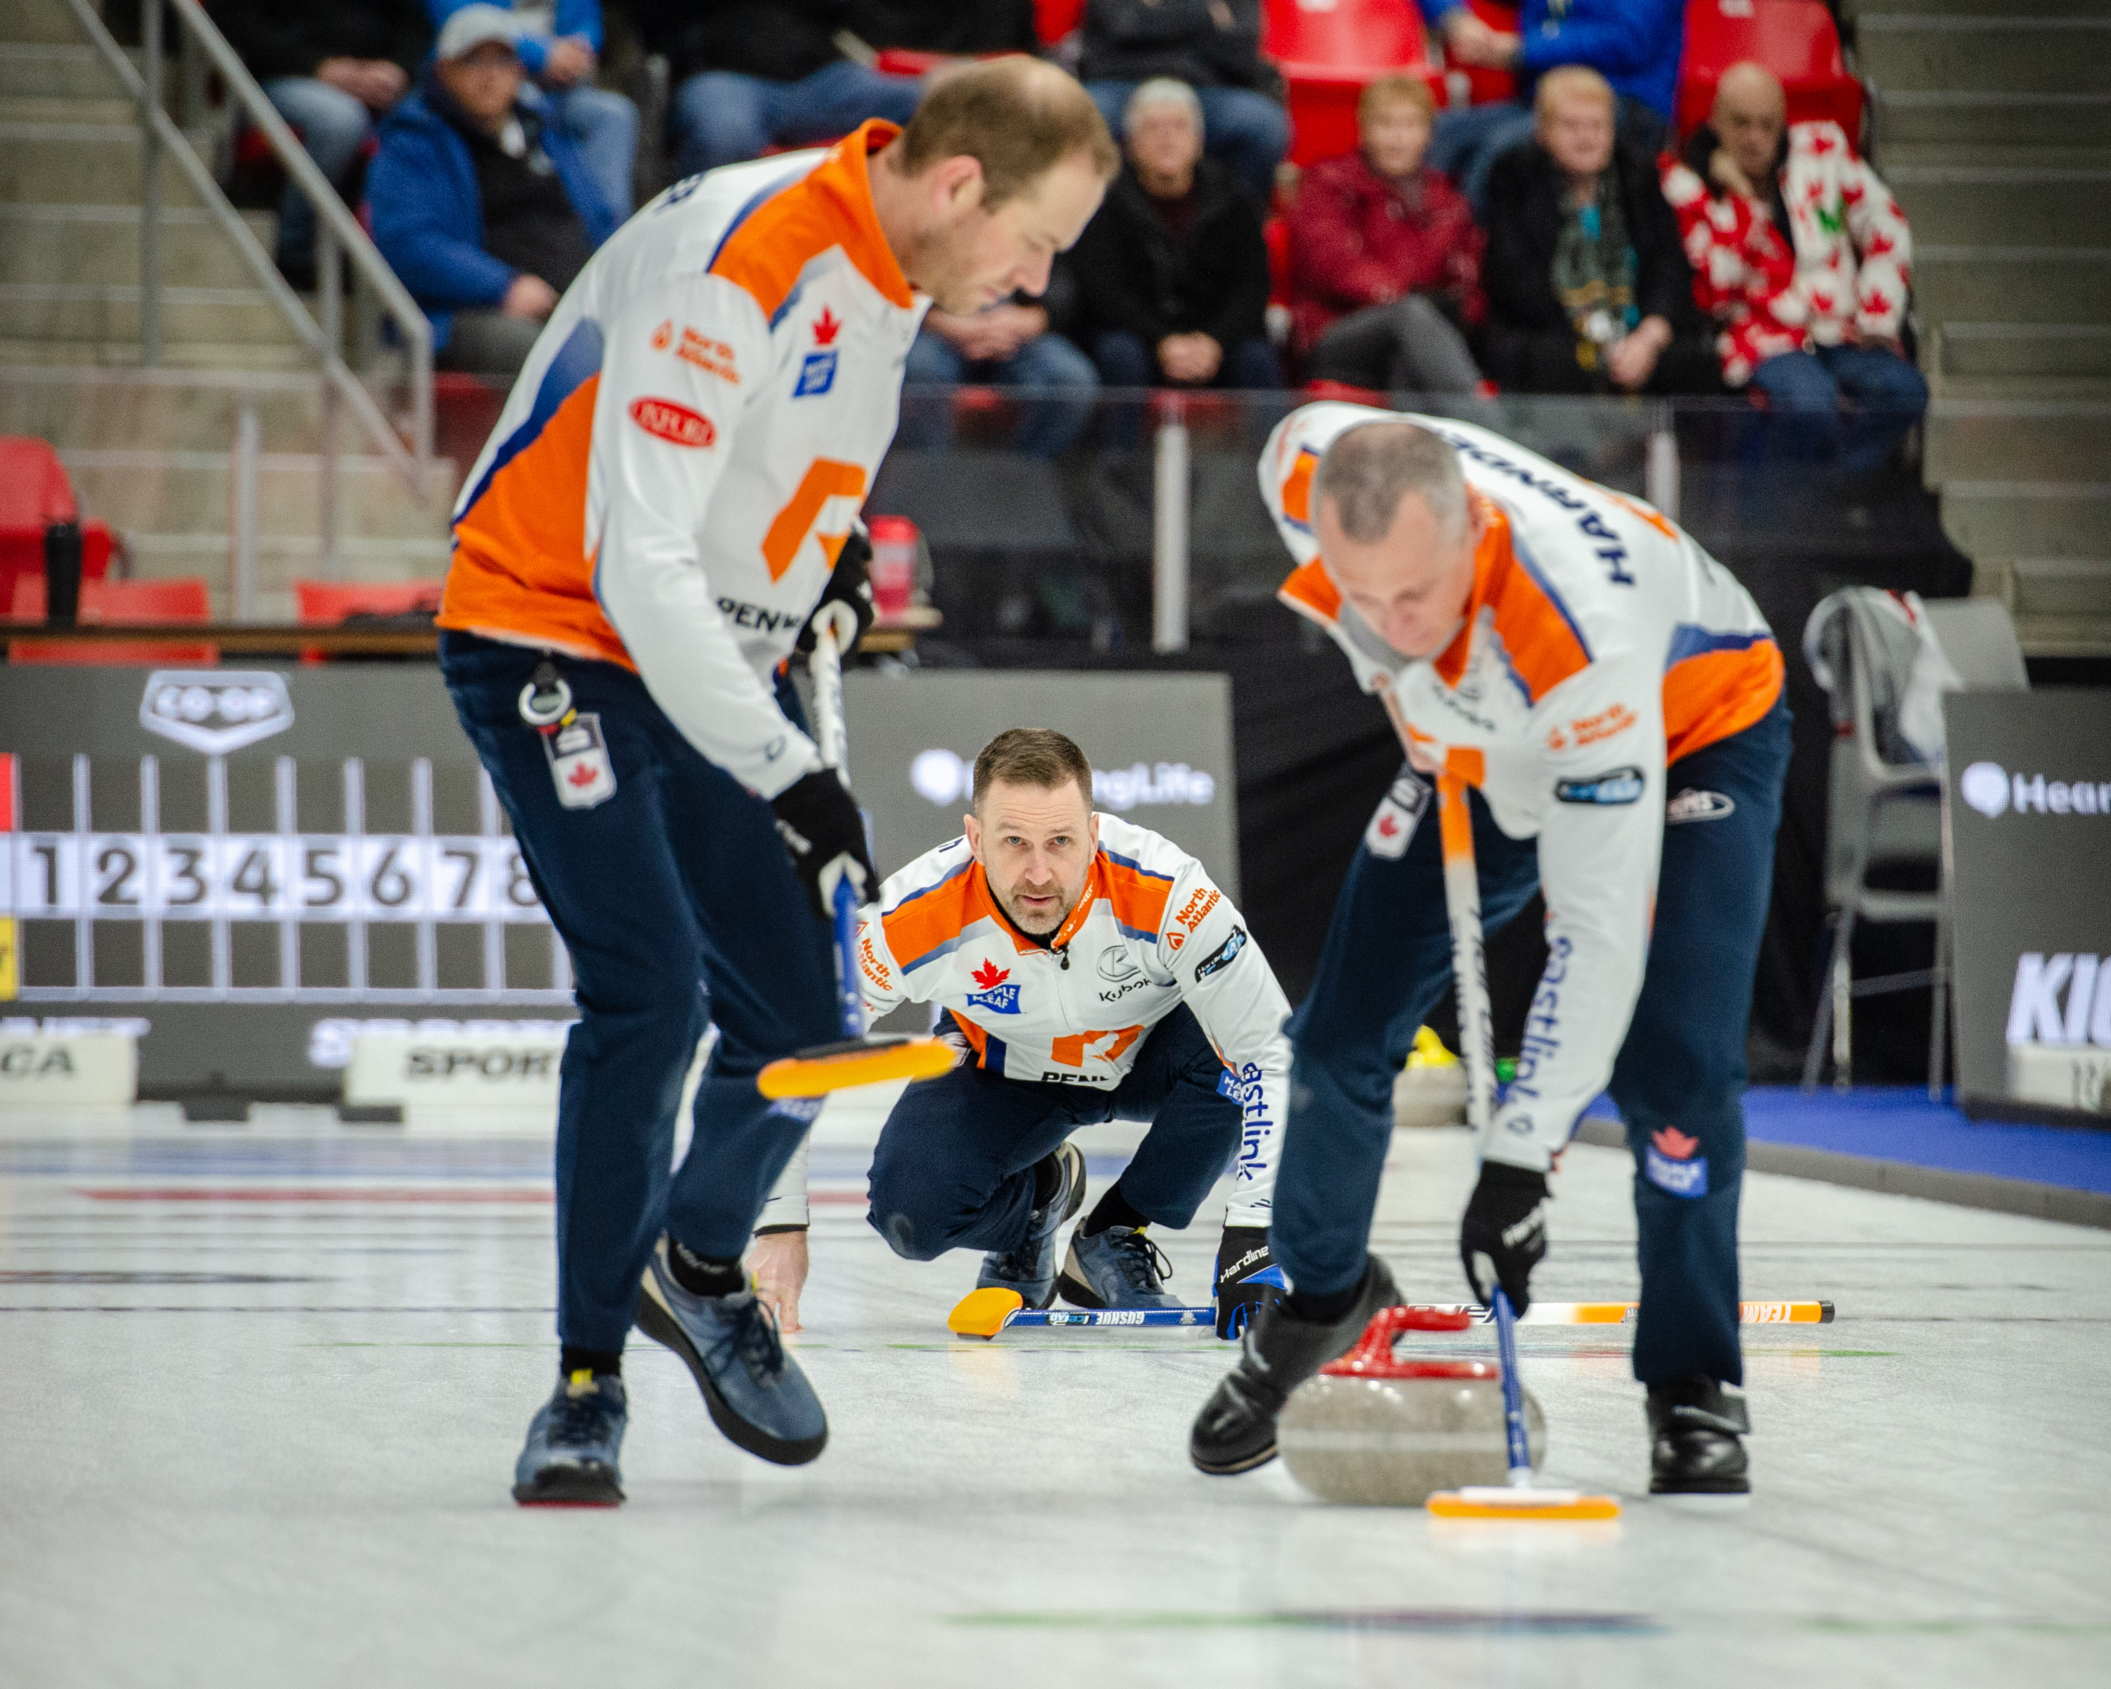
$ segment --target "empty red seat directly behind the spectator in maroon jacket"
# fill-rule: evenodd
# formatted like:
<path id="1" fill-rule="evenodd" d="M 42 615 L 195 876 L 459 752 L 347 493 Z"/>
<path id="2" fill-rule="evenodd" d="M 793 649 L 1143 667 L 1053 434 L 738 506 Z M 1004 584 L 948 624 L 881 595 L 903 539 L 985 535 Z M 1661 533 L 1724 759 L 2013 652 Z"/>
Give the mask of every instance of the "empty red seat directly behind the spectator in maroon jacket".
<path id="1" fill-rule="evenodd" d="M 1267 0 L 1260 51 L 1283 74 L 1292 165 L 1355 150 L 1355 101 L 1378 76 L 1414 72 L 1444 103 L 1412 0 Z"/>

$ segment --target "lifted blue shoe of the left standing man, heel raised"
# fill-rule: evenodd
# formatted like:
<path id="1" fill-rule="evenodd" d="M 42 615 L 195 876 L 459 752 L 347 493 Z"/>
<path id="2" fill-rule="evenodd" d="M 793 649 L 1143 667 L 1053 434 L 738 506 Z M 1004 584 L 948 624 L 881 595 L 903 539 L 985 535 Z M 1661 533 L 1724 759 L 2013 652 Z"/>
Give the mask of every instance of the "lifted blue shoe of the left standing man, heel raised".
<path id="1" fill-rule="evenodd" d="M 667 1237 L 652 1246 L 638 1296 L 638 1330 L 673 1349 L 703 1404 L 735 1444 L 777 1465 L 804 1465 L 828 1446 L 828 1415 L 777 1320 L 754 1290 L 697 1296 L 667 1267 Z"/>

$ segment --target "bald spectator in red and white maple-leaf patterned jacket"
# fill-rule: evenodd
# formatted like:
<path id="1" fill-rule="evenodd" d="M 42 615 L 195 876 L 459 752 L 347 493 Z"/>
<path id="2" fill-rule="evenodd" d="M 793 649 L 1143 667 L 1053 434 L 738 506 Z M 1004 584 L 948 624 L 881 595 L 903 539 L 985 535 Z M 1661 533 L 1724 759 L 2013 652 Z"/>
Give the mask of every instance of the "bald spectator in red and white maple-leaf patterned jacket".
<path id="1" fill-rule="evenodd" d="M 1913 236 L 1841 127 L 1790 125 L 1773 72 L 1731 65 L 1663 192 L 1723 329 L 1723 380 L 1767 395 L 1782 454 L 1839 452 L 1845 475 L 1889 462 L 1927 410 L 1900 344 Z M 1845 424 L 1843 393 L 1860 405 Z"/>

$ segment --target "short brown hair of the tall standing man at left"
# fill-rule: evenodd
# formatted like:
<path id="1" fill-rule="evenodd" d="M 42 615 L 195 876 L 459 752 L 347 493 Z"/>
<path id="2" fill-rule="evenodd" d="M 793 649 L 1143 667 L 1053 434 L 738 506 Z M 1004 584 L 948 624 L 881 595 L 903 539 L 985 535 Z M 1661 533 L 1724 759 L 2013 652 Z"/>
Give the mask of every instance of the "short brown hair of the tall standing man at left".
<path id="1" fill-rule="evenodd" d="M 933 82 L 901 131 L 901 169 L 918 175 L 946 158 L 982 165 L 982 209 L 1032 192 L 1056 165 L 1083 152 L 1102 182 L 1121 152 L 1091 95 L 1060 65 L 1007 53 Z"/>

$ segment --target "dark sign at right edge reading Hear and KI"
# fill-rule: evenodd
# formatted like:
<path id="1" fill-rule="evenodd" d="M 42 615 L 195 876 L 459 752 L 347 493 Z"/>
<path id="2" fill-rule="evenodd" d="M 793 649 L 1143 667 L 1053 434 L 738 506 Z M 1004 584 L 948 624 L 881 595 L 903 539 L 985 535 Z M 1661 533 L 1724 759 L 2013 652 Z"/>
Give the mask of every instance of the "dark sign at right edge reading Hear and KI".
<path id="1" fill-rule="evenodd" d="M 1965 1113 L 2111 1117 L 2111 692 L 1953 692 Z"/>

